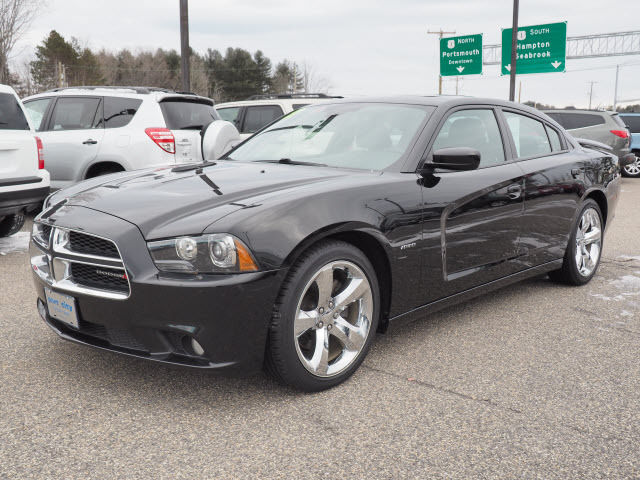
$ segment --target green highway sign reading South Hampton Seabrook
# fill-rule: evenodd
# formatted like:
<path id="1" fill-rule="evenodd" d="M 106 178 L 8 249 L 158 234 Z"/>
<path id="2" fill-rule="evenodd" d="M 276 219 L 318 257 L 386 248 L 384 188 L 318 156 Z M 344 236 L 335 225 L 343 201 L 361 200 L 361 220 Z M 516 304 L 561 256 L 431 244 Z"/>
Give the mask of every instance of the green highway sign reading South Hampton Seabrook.
<path id="1" fill-rule="evenodd" d="M 511 28 L 502 30 L 502 75 L 511 72 Z M 518 27 L 516 73 L 564 72 L 567 22 Z"/>

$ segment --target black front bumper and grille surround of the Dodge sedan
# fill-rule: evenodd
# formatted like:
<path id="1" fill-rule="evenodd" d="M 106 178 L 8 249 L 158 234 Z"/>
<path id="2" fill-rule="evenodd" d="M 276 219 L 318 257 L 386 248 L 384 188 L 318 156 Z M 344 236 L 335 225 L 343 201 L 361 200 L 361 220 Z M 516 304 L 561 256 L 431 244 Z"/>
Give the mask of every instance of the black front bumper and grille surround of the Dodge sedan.
<path id="1" fill-rule="evenodd" d="M 46 215 L 46 214 L 45 214 Z M 126 298 L 69 291 L 32 267 L 38 309 L 62 338 L 159 362 L 233 373 L 261 368 L 267 331 L 284 271 L 210 275 L 200 278 L 161 276 L 146 242 L 132 224 L 83 207 L 64 206 L 44 221 L 63 228 L 86 229 L 113 240 L 129 279 Z M 32 257 L 50 254 L 31 245 Z M 49 315 L 44 288 L 75 299 L 79 328 Z M 190 348 L 195 339 L 204 353 Z"/>

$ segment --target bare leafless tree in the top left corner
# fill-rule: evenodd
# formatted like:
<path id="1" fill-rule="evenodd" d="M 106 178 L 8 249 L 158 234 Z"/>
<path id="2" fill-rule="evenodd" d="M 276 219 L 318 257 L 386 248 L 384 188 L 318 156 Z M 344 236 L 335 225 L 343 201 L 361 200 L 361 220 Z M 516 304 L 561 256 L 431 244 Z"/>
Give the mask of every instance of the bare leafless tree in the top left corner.
<path id="1" fill-rule="evenodd" d="M 43 3 L 41 0 L 0 0 L 0 83 L 9 80 L 9 55 Z"/>

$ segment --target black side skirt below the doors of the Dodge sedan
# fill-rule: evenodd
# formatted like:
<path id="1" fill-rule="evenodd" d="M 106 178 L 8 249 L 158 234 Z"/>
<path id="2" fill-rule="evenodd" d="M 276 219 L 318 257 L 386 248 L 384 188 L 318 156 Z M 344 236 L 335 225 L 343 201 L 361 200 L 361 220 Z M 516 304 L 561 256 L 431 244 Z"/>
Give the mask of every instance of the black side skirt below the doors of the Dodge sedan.
<path id="1" fill-rule="evenodd" d="M 409 310 L 406 313 L 396 315 L 395 317 L 389 319 L 389 325 L 398 326 L 415 320 L 423 319 L 425 315 L 428 315 L 430 313 L 435 313 L 452 305 L 457 305 L 458 303 L 471 300 L 475 297 L 479 297 L 480 295 L 484 295 L 485 293 L 498 290 L 502 287 L 520 282 L 527 278 L 535 277 L 537 275 L 542 275 L 544 273 L 557 270 L 561 266 L 562 259 L 560 258 L 558 260 L 543 263 L 542 265 L 538 265 L 537 267 L 528 268 L 527 270 L 523 270 L 522 272 L 514 273 L 507 277 L 494 280 L 493 282 L 478 285 L 477 287 L 470 288 L 469 290 L 464 290 L 463 292 L 441 298 L 440 300 L 422 305 L 418 308 L 414 308 L 413 310 Z"/>

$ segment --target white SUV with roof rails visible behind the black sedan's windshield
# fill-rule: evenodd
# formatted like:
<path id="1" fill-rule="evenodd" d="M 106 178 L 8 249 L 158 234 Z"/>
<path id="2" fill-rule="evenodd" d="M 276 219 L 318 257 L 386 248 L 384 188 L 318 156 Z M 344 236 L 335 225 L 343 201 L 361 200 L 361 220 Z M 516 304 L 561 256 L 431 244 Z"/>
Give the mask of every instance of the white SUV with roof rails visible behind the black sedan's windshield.
<path id="1" fill-rule="evenodd" d="M 219 103 L 215 108 L 220 118 L 235 124 L 244 140 L 287 113 L 336 98 L 342 97 L 324 93 L 253 95 L 241 102 Z"/>

